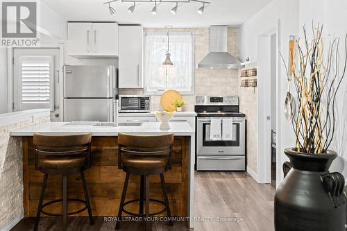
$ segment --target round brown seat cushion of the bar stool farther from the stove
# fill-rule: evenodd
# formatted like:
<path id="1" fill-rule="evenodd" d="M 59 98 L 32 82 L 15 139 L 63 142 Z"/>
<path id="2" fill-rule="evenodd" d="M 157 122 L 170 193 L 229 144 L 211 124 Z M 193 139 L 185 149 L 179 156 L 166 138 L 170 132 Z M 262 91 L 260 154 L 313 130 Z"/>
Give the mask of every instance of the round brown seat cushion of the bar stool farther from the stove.
<path id="1" fill-rule="evenodd" d="M 40 166 L 45 169 L 71 169 L 85 165 L 87 158 L 85 155 L 76 156 L 49 156 L 40 160 Z"/>

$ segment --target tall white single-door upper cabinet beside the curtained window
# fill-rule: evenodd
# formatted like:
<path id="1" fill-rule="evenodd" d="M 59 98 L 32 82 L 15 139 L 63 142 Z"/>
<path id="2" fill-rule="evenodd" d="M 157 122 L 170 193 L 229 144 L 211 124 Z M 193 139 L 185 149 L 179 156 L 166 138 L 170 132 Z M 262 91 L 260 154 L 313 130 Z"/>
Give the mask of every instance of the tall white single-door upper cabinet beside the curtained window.
<path id="1" fill-rule="evenodd" d="M 119 88 L 142 88 L 142 26 L 119 26 Z"/>

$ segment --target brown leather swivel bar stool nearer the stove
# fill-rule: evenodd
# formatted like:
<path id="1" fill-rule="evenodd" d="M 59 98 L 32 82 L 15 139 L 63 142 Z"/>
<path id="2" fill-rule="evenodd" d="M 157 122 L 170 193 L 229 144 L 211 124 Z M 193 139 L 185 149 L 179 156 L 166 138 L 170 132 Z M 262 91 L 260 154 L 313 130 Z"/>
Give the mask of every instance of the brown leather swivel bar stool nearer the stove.
<path id="1" fill-rule="evenodd" d="M 139 136 L 119 133 L 118 134 L 118 168 L 126 172 L 123 193 L 121 194 L 121 203 L 119 205 L 116 230 L 121 225 L 121 214 L 125 212 L 131 216 L 155 216 L 162 212 L 167 212 L 167 216 L 171 217 L 169 199 L 167 197 L 167 189 L 165 187 L 164 172 L 172 167 L 172 146 L 174 144 L 174 135 L 172 133 L 166 135 Z M 140 176 L 140 195 L 139 199 L 129 200 L 124 203 L 126 198 L 126 190 L 130 174 Z M 160 174 L 160 182 L 164 201 L 149 198 L 149 176 Z M 146 201 L 146 209 L 144 214 L 144 198 Z M 139 214 L 128 212 L 124 209 L 125 205 L 139 201 Z M 153 201 L 164 205 L 164 209 L 159 212 L 149 212 L 149 202 Z M 146 226 L 148 223 L 146 222 Z M 169 219 L 169 225 L 173 223 Z"/>

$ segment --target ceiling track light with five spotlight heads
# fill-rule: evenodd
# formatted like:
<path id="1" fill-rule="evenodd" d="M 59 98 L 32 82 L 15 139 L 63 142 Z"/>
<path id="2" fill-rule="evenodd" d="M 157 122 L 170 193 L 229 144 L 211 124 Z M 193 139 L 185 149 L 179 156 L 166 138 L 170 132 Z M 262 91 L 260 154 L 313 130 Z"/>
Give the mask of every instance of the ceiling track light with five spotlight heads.
<path id="1" fill-rule="evenodd" d="M 200 15 L 203 14 L 203 11 L 205 10 L 206 7 L 211 6 L 211 3 L 209 1 L 203 1 L 203 0 L 176 0 L 176 1 L 175 0 L 171 0 L 171 1 L 164 1 L 164 0 L 110 0 L 110 1 L 106 1 L 103 4 L 104 5 L 108 4 L 108 10 L 110 11 L 111 15 L 113 15 L 116 12 L 115 8 L 112 8 L 112 6 L 110 6 L 110 3 L 114 2 L 114 1 L 133 3 L 133 6 L 130 6 L 128 8 L 129 12 L 134 12 L 134 10 L 137 6 L 136 3 L 153 3 L 153 2 L 155 2 L 154 7 L 151 10 L 151 13 L 153 15 L 157 14 L 158 6 L 160 5 L 160 3 L 176 3 L 176 6 L 174 6 L 174 8 L 172 8 L 170 10 L 171 13 L 173 13 L 174 15 L 177 14 L 178 7 L 183 5 L 183 3 L 190 3 L 190 2 L 203 3 L 203 6 L 201 6 L 201 8 L 198 8 L 198 14 L 200 14 Z"/>

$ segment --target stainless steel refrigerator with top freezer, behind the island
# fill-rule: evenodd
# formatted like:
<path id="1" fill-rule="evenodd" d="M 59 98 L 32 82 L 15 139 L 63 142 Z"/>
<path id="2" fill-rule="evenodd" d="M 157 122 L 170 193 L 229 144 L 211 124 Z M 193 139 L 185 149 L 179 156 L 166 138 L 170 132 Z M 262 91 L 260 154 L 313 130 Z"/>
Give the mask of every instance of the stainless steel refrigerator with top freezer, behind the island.
<path id="1" fill-rule="evenodd" d="M 64 67 L 64 121 L 113 121 L 115 66 Z"/>

